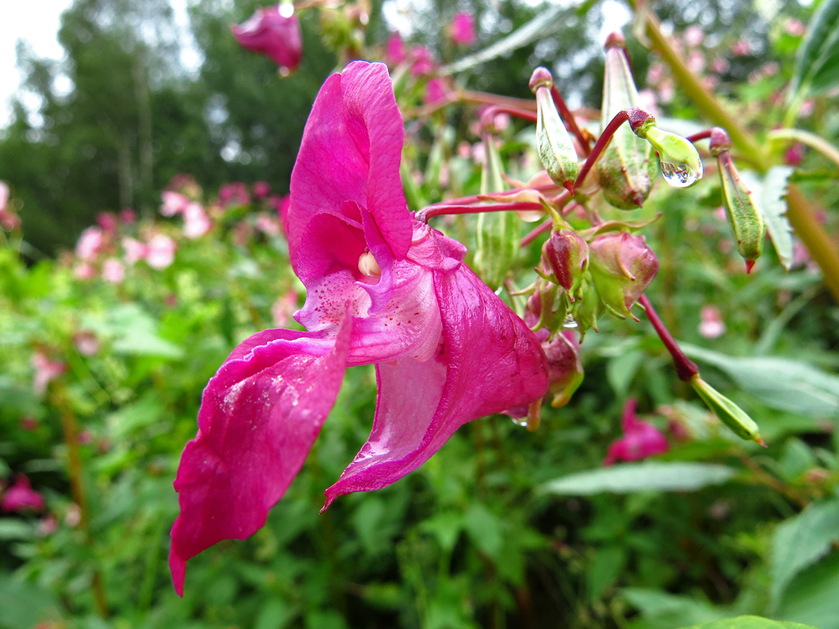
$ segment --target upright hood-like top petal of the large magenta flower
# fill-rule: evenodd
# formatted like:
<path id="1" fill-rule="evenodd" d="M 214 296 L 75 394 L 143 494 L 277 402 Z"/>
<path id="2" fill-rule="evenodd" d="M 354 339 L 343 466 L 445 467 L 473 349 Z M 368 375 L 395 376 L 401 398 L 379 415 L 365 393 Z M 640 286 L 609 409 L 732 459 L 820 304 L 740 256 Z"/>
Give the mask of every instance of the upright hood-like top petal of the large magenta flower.
<path id="1" fill-rule="evenodd" d="M 289 252 L 295 271 L 305 226 L 314 216 L 326 212 L 360 221 L 347 213 L 347 201 L 366 207 L 391 255 L 405 257 L 412 219 L 399 178 L 402 124 L 386 65 L 355 61 L 320 88 L 291 175 Z"/>

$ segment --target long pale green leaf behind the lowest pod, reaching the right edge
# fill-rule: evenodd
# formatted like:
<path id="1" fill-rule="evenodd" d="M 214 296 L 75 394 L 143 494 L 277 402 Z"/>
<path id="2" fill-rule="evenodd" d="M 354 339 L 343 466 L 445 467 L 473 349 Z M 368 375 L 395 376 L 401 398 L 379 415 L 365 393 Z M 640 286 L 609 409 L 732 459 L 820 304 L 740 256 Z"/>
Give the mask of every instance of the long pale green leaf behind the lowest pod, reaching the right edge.
<path id="1" fill-rule="evenodd" d="M 839 376 L 789 358 L 727 356 L 682 344 L 696 361 L 716 366 L 770 408 L 801 414 L 839 414 Z"/>

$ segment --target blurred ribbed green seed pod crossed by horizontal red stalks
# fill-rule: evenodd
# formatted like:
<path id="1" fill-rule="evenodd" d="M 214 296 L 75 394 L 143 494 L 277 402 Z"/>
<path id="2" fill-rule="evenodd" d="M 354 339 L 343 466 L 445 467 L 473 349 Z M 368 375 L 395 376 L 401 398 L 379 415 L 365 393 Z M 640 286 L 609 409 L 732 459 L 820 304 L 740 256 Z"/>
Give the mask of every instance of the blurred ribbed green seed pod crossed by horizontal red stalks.
<path id="1" fill-rule="evenodd" d="M 485 159 L 481 172 L 481 193 L 504 189 L 501 156 L 489 133 L 483 134 Z M 482 212 L 477 219 L 475 267 L 491 289 L 501 286 L 519 254 L 521 230 L 515 212 Z"/>

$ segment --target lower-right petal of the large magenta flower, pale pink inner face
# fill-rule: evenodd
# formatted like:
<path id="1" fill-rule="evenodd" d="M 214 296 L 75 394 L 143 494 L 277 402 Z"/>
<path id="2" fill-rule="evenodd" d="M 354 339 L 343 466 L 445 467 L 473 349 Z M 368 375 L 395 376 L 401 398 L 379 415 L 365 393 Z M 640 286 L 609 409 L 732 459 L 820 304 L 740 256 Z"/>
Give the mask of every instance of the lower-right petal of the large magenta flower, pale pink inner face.
<path id="1" fill-rule="evenodd" d="M 388 486 L 440 450 L 472 419 L 529 404 L 548 388 L 533 332 L 465 265 L 437 273 L 444 349 L 426 362 L 380 364 L 373 432 L 326 507 L 341 494 Z M 325 508 L 326 508 L 325 507 Z"/>

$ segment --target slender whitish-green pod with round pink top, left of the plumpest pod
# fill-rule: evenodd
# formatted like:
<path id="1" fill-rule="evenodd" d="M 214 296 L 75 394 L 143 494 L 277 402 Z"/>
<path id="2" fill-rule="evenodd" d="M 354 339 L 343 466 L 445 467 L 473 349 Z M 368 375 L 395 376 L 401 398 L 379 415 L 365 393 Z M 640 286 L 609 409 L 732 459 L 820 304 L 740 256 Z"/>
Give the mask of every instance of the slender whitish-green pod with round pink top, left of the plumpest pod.
<path id="1" fill-rule="evenodd" d="M 556 111 L 550 88 L 553 77 L 547 68 L 539 66 L 530 77 L 530 91 L 536 95 L 536 142 L 539 159 L 555 184 L 574 194 L 574 181 L 580 170 L 574 143 Z"/>

